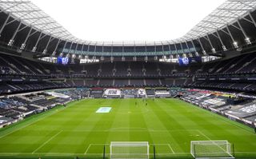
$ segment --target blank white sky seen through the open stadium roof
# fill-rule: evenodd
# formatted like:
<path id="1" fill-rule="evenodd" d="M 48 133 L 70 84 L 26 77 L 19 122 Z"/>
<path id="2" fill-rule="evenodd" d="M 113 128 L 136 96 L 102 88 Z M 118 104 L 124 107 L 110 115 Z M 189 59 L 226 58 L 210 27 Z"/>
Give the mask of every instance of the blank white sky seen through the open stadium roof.
<path id="1" fill-rule="evenodd" d="M 226 0 L 31 0 L 86 41 L 181 38 Z"/>

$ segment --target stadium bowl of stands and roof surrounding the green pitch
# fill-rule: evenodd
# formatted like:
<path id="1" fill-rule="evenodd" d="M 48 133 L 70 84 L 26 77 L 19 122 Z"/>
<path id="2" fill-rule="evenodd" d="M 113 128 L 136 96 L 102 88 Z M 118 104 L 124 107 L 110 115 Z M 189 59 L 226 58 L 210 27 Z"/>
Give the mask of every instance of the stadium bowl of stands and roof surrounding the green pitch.
<path id="1" fill-rule="evenodd" d="M 47 32 L 37 26 L 45 21 L 34 24 L 21 14 L 22 7 L 34 6 L 31 2 L 17 3 L 19 10 L 10 6 L 12 2 L 0 4 L 3 125 L 84 97 L 181 97 L 253 125 L 256 2 L 250 1 L 243 10 L 232 8 L 243 6 L 239 2 L 225 2 L 224 6 L 236 14 L 234 18 L 224 16 L 224 23 L 216 23 L 220 26 L 212 25 L 216 18 L 210 14 L 210 23 L 202 21 L 177 40 L 122 42 L 121 46 L 118 42 L 78 40 L 50 16 L 48 22 L 56 25 L 62 36 L 52 34 L 55 30 Z M 34 16 L 41 21 L 44 12 L 38 10 Z M 226 12 L 221 7 L 213 14 L 223 16 Z M 242 96 L 244 101 L 230 96 Z"/>

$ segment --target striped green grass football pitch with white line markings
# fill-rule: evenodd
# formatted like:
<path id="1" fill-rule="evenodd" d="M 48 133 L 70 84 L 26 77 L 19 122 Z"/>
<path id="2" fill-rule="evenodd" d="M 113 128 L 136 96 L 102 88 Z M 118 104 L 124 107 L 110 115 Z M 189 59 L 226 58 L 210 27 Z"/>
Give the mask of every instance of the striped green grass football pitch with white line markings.
<path id="1" fill-rule="evenodd" d="M 137 104 L 136 104 L 137 103 Z M 147 104 L 146 104 L 147 103 Z M 111 107 L 109 113 L 96 113 Z M 254 129 L 178 99 L 84 99 L 0 129 L 0 158 L 109 158 L 111 141 L 148 141 L 150 158 L 192 158 L 190 141 L 227 140 L 256 158 Z"/>

